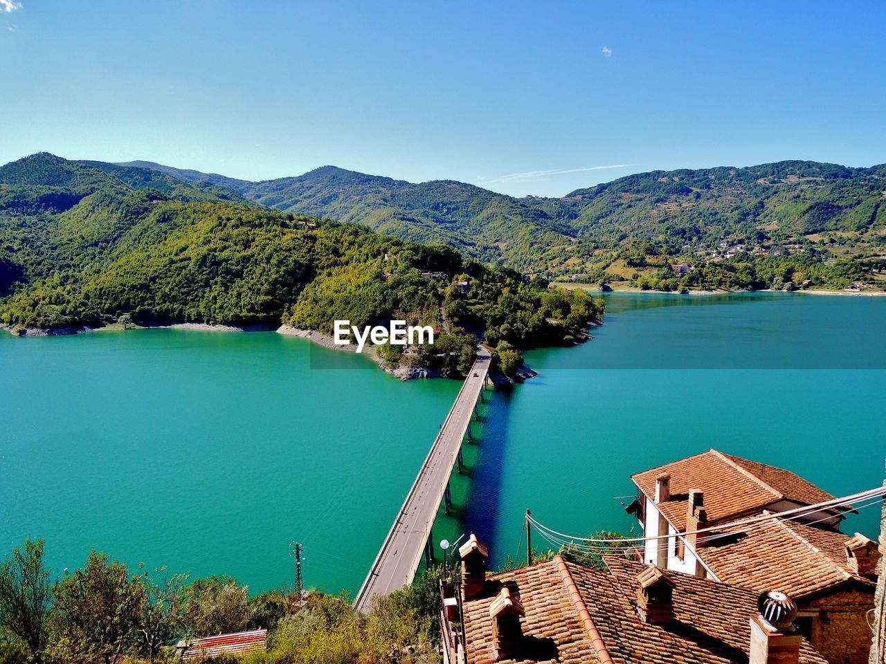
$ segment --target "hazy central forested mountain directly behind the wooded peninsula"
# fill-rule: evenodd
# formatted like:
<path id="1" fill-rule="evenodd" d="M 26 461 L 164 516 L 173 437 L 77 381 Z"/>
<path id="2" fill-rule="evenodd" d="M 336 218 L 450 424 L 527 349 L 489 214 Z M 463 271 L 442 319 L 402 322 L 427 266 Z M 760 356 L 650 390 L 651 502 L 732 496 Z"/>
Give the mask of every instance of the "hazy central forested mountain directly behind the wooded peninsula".
<path id="1" fill-rule="evenodd" d="M 420 243 L 444 243 L 480 260 L 519 270 L 556 269 L 563 253 L 587 252 L 568 222 L 536 205 L 457 181 L 413 184 L 323 166 L 299 175 L 250 182 L 147 166 L 191 182 L 237 190 L 261 205 L 368 226 Z M 580 247 L 580 248 L 579 248 Z"/>

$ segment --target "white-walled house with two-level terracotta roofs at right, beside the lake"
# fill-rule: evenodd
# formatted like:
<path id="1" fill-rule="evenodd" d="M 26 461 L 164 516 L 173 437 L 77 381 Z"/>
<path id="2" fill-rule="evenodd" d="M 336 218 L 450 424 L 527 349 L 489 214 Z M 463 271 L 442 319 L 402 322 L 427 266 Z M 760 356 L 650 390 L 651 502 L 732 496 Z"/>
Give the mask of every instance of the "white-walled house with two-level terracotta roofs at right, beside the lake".
<path id="1" fill-rule="evenodd" d="M 639 495 L 629 510 L 644 537 L 659 537 L 645 542 L 642 560 L 752 591 L 785 591 L 799 606 L 800 629 L 828 661 L 867 662 L 879 552 L 867 537 L 840 531 L 846 508 L 717 530 L 832 500 L 827 491 L 789 470 L 716 450 L 632 479 Z M 694 534 L 702 529 L 713 531 Z"/>

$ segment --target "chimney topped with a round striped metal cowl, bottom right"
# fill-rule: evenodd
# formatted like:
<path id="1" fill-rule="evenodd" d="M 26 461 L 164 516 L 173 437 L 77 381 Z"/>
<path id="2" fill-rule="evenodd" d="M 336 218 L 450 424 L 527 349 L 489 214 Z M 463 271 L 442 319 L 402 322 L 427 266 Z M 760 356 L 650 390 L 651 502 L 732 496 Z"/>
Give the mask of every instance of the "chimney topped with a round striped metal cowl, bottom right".
<path id="1" fill-rule="evenodd" d="M 797 664 L 803 637 L 794 627 L 797 604 L 784 592 L 764 592 L 750 618 L 748 664 Z"/>

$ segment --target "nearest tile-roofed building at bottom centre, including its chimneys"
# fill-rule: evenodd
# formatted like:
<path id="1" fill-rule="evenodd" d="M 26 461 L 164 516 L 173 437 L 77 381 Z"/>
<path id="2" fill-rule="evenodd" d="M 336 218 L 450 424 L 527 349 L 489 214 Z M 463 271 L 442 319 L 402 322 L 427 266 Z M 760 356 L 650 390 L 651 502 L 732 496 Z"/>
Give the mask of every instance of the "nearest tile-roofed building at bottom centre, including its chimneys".
<path id="1" fill-rule="evenodd" d="M 792 627 L 793 614 L 766 621 L 753 591 L 622 558 L 601 570 L 555 556 L 486 576 L 486 550 L 472 539 L 461 588 L 443 586 L 447 664 L 826 661 Z"/>

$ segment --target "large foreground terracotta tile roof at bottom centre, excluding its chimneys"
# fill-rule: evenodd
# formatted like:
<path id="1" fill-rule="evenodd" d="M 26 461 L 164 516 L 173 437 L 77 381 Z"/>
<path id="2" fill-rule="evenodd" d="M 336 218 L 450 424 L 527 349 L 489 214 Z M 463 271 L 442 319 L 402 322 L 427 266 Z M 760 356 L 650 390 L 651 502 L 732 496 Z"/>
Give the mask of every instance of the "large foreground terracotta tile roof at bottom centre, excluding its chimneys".
<path id="1" fill-rule="evenodd" d="M 610 560 L 607 560 L 610 563 Z M 746 664 L 757 593 L 663 570 L 674 584 L 675 620 L 642 622 L 637 614 L 640 563 L 617 559 L 610 571 L 581 567 L 559 556 L 490 577 L 486 598 L 464 604 L 468 664 L 495 661 L 489 607 L 502 586 L 520 598 L 525 649 L 503 662 L 560 664 Z M 801 664 L 825 660 L 806 643 Z"/>

